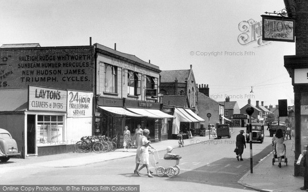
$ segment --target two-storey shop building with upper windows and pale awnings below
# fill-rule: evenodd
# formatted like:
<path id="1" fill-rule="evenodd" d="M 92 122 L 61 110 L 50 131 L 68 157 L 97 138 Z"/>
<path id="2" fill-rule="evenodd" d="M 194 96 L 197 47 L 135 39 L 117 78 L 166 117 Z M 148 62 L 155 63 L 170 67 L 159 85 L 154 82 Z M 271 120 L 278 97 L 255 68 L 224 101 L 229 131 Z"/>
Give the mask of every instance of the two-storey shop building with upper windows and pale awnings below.
<path id="1" fill-rule="evenodd" d="M 166 140 L 167 119 L 174 116 L 161 111 L 159 67 L 115 48 L 94 47 L 98 134 L 121 138 L 124 126 L 134 134 L 141 124 L 149 129 L 150 140 Z"/>

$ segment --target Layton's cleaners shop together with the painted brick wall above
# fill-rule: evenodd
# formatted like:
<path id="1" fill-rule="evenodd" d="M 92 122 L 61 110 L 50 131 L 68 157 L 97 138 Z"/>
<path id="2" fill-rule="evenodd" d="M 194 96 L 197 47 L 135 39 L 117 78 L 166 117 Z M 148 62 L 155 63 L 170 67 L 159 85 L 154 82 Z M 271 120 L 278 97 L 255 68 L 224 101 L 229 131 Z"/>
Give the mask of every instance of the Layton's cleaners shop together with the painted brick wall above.
<path id="1" fill-rule="evenodd" d="M 72 152 L 92 135 L 94 47 L 0 48 L 0 122 L 23 157 Z"/>

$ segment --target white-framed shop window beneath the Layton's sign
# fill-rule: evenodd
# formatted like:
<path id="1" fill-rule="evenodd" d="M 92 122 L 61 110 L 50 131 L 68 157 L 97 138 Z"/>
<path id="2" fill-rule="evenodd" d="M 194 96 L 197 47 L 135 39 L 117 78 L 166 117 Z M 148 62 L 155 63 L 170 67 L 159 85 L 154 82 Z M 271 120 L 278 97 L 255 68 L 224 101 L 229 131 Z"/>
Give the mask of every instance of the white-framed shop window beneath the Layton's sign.
<path id="1" fill-rule="evenodd" d="M 40 144 L 63 144 L 63 116 L 37 115 Z"/>

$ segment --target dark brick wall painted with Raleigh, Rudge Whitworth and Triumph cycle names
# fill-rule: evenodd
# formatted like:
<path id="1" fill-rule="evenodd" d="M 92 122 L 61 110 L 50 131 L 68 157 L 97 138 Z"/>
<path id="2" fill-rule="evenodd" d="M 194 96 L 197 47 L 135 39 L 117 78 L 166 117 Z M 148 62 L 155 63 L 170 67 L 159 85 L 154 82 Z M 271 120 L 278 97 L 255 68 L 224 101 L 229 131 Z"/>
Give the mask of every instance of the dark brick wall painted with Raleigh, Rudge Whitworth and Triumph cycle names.
<path id="1" fill-rule="evenodd" d="M 0 89 L 46 86 L 92 91 L 93 47 L 0 49 Z"/>

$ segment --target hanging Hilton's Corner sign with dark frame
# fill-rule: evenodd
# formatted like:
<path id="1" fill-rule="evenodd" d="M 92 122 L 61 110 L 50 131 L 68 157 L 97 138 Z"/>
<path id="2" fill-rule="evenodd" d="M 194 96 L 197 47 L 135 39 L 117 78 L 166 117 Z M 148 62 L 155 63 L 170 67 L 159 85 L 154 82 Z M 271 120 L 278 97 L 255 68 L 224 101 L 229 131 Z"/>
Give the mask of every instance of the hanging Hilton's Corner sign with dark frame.
<path id="1" fill-rule="evenodd" d="M 262 39 L 295 42 L 295 20 L 280 16 L 262 16 Z"/>

